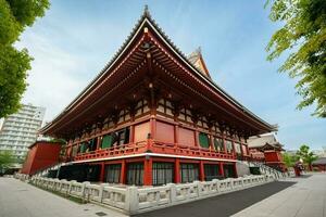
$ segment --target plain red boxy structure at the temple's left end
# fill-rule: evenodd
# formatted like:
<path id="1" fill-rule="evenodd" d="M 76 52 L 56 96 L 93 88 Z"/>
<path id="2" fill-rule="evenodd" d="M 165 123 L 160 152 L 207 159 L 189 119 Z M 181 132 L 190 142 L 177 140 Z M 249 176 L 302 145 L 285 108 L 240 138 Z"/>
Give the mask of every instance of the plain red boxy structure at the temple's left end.
<path id="1" fill-rule="evenodd" d="M 28 149 L 22 174 L 34 175 L 40 169 L 59 163 L 61 143 L 49 141 L 36 141 Z"/>

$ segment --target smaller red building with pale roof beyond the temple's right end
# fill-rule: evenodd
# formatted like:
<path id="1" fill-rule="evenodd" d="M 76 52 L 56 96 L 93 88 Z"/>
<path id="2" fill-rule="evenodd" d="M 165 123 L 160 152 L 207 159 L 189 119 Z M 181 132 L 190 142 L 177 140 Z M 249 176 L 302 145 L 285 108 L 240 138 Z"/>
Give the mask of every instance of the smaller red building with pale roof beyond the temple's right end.
<path id="1" fill-rule="evenodd" d="M 263 162 L 280 171 L 286 170 L 281 157 L 281 152 L 285 151 L 284 145 L 277 141 L 274 133 L 253 136 L 247 142 L 252 161 Z"/>

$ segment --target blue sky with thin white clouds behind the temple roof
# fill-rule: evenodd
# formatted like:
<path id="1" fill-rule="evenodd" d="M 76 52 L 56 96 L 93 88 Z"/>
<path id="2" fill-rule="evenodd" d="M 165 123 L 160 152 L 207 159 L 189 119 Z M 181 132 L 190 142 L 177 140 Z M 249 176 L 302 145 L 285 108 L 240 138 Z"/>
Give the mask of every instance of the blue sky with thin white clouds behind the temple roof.
<path id="1" fill-rule="evenodd" d="M 271 124 L 286 149 L 326 146 L 326 120 L 314 107 L 297 111 L 296 80 L 277 73 L 285 56 L 266 61 L 265 47 L 280 24 L 264 1 L 55 0 L 27 28 L 18 48 L 35 58 L 24 103 L 59 114 L 114 55 L 148 4 L 153 18 L 184 53 L 201 47 L 212 78 Z"/>

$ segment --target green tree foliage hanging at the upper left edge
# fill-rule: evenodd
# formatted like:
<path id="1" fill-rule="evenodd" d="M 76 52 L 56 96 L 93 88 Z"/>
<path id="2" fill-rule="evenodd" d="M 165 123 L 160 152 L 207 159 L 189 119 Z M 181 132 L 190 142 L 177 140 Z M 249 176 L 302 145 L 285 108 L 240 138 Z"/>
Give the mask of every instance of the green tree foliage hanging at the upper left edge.
<path id="1" fill-rule="evenodd" d="M 17 50 L 13 43 L 49 5 L 48 0 L 0 0 L 0 117 L 20 108 L 33 60 L 26 49 Z"/>

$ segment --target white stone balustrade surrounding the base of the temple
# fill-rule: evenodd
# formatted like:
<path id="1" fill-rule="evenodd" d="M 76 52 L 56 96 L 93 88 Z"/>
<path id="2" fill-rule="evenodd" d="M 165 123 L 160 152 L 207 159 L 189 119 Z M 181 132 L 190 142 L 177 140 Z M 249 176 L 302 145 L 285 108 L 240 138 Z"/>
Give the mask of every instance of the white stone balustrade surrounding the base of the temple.
<path id="1" fill-rule="evenodd" d="M 223 193 L 247 189 L 275 180 L 272 175 L 247 176 L 192 183 L 168 183 L 162 187 L 112 187 L 75 180 L 59 180 L 43 177 L 28 177 L 16 174 L 15 178 L 32 182 L 40 188 L 58 191 L 92 203 L 114 207 L 125 214 L 143 213 L 201 200 Z"/>

